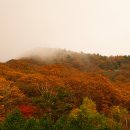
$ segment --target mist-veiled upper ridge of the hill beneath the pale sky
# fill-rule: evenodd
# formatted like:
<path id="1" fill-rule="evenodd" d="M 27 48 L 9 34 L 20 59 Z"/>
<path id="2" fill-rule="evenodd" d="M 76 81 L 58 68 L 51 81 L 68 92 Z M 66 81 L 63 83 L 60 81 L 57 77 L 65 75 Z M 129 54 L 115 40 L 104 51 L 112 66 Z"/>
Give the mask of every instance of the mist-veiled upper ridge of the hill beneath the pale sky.
<path id="1" fill-rule="evenodd" d="M 20 59 L 32 59 L 41 63 L 61 63 L 77 67 L 81 70 L 110 69 L 118 70 L 125 64 L 130 64 L 129 55 L 102 56 L 66 49 L 37 48 L 26 53 Z"/>

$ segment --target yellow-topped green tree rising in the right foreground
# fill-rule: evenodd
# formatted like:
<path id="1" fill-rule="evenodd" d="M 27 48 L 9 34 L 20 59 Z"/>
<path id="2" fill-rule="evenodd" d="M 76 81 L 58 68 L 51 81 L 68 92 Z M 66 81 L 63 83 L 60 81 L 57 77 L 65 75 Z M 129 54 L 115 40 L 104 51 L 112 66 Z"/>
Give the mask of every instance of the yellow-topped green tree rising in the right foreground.
<path id="1" fill-rule="evenodd" d="M 108 122 L 109 118 L 99 114 L 96 111 L 95 103 L 89 98 L 85 98 L 79 109 L 75 109 L 70 113 L 70 126 L 80 130 L 120 130 L 120 126 L 115 121 Z"/>

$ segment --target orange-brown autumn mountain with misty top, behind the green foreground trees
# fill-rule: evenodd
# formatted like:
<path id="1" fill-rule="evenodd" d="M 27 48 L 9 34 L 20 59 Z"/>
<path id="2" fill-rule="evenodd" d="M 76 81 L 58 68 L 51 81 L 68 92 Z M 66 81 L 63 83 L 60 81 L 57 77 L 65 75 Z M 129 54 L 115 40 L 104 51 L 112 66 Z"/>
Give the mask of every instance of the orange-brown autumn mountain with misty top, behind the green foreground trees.
<path id="1" fill-rule="evenodd" d="M 19 108 L 27 117 L 49 113 L 57 120 L 86 97 L 106 117 L 114 106 L 130 111 L 130 56 L 44 48 L 0 63 L 1 119 Z"/>

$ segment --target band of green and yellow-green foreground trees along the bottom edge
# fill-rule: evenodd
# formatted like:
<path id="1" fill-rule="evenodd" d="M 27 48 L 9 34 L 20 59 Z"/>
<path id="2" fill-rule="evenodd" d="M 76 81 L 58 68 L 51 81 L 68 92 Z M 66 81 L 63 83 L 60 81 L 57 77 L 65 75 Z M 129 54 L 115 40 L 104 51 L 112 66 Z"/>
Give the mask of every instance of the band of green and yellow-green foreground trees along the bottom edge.
<path id="1" fill-rule="evenodd" d="M 80 108 L 71 110 L 56 122 L 49 118 L 25 119 L 20 111 L 15 110 L 1 123 L 0 130 L 121 130 L 123 126 L 119 120 L 114 115 L 106 118 L 99 114 L 95 103 L 85 98 Z"/>

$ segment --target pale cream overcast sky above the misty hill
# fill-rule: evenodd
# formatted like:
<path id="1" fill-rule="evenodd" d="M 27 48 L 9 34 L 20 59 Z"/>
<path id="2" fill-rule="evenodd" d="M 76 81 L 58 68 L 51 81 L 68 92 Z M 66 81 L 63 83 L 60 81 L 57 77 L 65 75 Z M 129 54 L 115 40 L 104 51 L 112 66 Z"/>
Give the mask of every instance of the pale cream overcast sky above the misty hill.
<path id="1" fill-rule="evenodd" d="M 130 0 L 0 0 L 0 61 L 38 47 L 130 55 Z"/>

